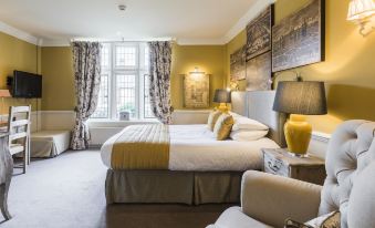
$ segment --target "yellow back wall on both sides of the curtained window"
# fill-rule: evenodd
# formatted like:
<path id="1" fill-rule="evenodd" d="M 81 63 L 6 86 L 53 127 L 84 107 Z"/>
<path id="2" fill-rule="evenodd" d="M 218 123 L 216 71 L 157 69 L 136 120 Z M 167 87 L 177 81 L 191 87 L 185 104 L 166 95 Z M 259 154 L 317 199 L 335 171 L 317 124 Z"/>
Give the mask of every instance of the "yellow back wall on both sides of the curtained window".
<path id="1" fill-rule="evenodd" d="M 174 45 L 171 64 L 171 101 L 184 108 L 181 74 L 195 66 L 211 74 L 210 93 L 223 86 L 223 45 Z M 43 110 L 73 110 L 75 105 L 71 48 L 42 48 Z"/>

